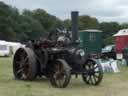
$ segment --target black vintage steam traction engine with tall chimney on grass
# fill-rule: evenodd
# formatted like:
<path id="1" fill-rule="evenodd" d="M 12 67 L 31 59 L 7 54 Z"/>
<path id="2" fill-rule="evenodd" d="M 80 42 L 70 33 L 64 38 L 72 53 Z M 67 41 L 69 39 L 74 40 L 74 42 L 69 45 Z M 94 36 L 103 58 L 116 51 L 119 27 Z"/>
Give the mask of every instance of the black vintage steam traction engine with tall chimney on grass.
<path id="1" fill-rule="evenodd" d="M 34 80 L 37 76 L 46 76 L 58 88 L 66 87 L 73 74 L 81 74 L 89 85 L 98 85 L 102 81 L 101 65 L 79 47 L 77 15 L 78 12 L 72 12 L 71 40 L 63 35 L 65 38 L 58 37 L 56 42 L 50 39 L 31 41 L 16 51 L 13 60 L 16 79 Z"/>

